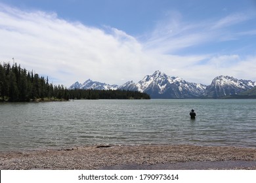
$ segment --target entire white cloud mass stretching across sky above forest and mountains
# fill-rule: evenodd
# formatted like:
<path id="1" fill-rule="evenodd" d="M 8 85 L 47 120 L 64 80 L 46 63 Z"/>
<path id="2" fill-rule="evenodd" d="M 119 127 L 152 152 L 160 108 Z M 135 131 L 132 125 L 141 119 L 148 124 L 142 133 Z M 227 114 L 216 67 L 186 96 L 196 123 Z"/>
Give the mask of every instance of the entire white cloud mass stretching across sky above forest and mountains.
<path id="1" fill-rule="evenodd" d="M 158 24 L 144 41 L 139 41 L 114 27 L 98 29 L 68 22 L 53 12 L 28 12 L 0 4 L 0 17 L 0 50 L 4 50 L 1 61 L 15 58 L 22 67 L 48 75 L 54 78 L 54 84 L 65 86 L 88 78 L 109 84 L 138 82 L 156 70 L 209 84 L 218 74 L 243 78 L 242 73 L 253 69 L 255 63 L 254 58 L 243 60 L 236 54 L 175 54 L 218 39 L 219 32 L 211 27 L 222 27 L 228 18 L 219 23 L 187 24 L 179 12 L 174 12 L 171 19 Z"/>

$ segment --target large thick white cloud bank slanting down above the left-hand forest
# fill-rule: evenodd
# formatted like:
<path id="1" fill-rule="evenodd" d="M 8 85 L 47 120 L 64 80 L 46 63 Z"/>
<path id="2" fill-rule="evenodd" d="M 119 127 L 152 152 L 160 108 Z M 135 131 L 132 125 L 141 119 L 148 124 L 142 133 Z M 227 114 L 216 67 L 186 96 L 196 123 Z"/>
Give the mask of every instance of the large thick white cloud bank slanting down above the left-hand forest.
<path id="1" fill-rule="evenodd" d="M 72 84 L 87 78 L 102 82 L 134 79 L 143 68 L 140 43 L 123 31 L 87 27 L 56 14 L 24 12 L 1 5 L 1 59 L 12 57 L 27 69 Z M 141 69 L 143 70 L 143 69 Z M 129 75 L 135 73 L 135 75 Z"/>

